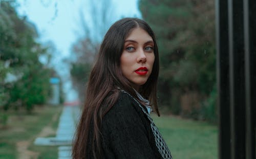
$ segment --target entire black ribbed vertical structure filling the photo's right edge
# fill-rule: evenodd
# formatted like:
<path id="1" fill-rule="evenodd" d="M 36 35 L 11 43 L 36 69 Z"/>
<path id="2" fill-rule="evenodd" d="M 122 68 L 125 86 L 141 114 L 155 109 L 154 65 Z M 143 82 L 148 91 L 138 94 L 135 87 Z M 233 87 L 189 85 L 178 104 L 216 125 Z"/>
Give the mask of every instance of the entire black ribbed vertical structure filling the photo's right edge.
<path id="1" fill-rule="evenodd" d="M 256 158 L 256 1 L 216 0 L 219 158 Z"/>

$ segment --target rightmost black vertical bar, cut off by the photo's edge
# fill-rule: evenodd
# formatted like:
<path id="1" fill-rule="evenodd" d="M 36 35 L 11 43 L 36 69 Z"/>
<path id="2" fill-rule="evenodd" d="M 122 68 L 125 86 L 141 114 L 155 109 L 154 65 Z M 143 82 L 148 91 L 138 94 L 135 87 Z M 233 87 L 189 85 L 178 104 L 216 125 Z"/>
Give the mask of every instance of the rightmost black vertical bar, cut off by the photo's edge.
<path id="1" fill-rule="evenodd" d="M 245 31 L 245 97 L 246 97 L 246 158 L 256 158 L 255 154 L 255 97 L 256 97 L 256 4 L 254 0 L 244 0 Z"/>

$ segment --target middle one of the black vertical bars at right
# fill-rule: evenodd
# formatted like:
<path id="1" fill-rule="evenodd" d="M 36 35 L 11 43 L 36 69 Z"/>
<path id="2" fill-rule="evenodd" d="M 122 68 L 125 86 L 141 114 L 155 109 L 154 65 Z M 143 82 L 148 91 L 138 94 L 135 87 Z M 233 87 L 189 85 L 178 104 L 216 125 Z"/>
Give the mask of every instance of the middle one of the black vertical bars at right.
<path id="1" fill-rule="evenodd" d="M 245 158 L 243 1 L 228 0 L 231 158 Z"/>

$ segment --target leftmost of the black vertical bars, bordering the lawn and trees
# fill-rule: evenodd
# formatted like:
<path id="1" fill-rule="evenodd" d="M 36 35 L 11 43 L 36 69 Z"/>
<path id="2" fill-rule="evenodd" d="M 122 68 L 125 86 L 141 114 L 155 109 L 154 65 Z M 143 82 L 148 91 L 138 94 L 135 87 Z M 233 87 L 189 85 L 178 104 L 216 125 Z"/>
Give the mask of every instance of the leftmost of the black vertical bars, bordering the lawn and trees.
<path id="1" fill-rule="evenodd" d="M 229 56 L 228 56 L 228 3 L 217 0 L 217 84 L 219 113 L 219 158 L 230 158 L 230 103 L 229 103 Z"/>

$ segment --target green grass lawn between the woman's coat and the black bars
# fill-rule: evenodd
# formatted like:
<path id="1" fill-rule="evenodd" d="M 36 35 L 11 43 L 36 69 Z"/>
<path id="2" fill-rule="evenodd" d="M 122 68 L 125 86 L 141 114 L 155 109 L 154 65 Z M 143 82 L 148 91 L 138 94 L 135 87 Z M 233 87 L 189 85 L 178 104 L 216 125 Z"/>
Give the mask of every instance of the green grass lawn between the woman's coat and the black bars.
<path id="1" fill-rule="evenodd" d="M 218 158 L 218 128 L 206 122 L 153 115 L 173 158 Z"/>

